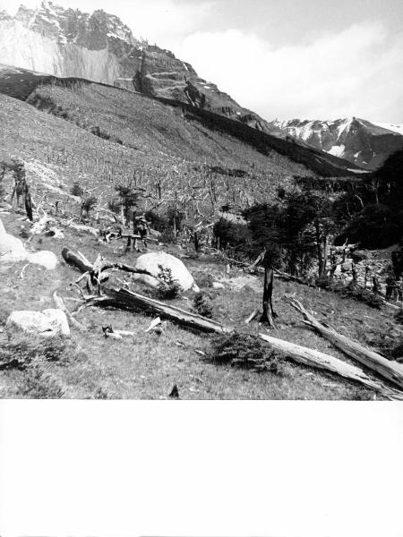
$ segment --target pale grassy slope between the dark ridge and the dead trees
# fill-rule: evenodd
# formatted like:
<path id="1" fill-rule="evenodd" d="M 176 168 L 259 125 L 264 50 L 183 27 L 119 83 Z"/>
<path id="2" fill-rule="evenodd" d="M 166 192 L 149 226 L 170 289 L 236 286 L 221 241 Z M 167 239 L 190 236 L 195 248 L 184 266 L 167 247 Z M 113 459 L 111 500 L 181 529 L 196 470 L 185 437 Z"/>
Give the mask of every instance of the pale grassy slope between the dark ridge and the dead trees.
<path id="1" fill-rule="evenodd" d="M 151 193 L 159 180 L 167 198 L 189 193 L 190 183 L 202 185 L 212 178 L 217 207 L 228 200 L 244 205 L 244 192 L 264 200 L 276 184 L 287 183 L 292 175 L 311 175 L 304 166 L 274 151 L 265 157 L 227 134 L 188 122 L 177 108 L 123 90 L 93 86 L 37 90 L 37 105 L 40 93 L 43 106 L 47 103 L 48 108 L 51 99 L 52 107 L 58 113 L 62 108 L 71 121 L 0 95 L 3 153 L 46 166 L 64 183 L 64 192 L 77 181 L 105 192 L 106 198 L 113 197 L 116 183 L 130 180 L 133 174 L 138 175 L 138 185 Z M 90 133 L 95 127 L 127 146 Z M 240 168 L 244 177 L 211 175 L 209 166 L 217 165 Z M 32 172 L 29 179 L 41 194 L 40 174 Z"/>

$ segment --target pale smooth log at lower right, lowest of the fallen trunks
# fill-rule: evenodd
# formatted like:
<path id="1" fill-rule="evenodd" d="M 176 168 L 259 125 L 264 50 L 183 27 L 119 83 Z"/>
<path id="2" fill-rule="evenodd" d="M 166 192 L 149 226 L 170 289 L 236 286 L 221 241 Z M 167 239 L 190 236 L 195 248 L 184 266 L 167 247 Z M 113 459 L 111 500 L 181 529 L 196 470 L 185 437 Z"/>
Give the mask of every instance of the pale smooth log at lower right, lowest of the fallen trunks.
<path id="1" fill-rule="evenodd" d="M 294 362 L 302 363 L 322 371 L 336 373 L 345 379 L 359 382 L 366 388 L 372 388 L 376 392 L 381 393 L 382 396 L 387 396 L 392 399 L 403 399 L 403 393 L 385 387 L 381 382 L 371 379 L 363 370 L 356 367 L 356 365 L 343 362 L 330 354 L 321 353 L 320 351 L 315 351 L 302 345 L 296 345 L 295 343 L 289 343 L 278 337 L 270 337 L 266 336 L 266 334 L 260 334 L 260 337 L 263 341 L 269 343 L 274 350 L 285 354 Z"/>

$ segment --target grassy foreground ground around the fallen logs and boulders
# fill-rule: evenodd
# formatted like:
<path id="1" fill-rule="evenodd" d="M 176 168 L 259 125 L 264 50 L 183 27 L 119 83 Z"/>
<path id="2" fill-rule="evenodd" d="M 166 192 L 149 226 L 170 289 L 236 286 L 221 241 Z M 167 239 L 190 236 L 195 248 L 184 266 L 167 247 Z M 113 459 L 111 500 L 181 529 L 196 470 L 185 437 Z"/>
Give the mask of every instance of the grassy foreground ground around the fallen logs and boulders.
<path id="1" fill-rule="evenodd" d="M 16 234 L 21 222 L 14 215 L 3 219 L 6 228 Z M 96 238 L 68 229 L 64 240 L 37 236 L 30 242 L 31 249 L 49 249 L 55 251 L 59 258 L 64 246 L 83 251 L 91 260 L 101 251 L 108 259 L 133 264 L 137 255 L 127 253 L 119 257 L 121 243 L 99 245 Z M 181 254 L 176 247 L 171 251 L 176 255 Z M 214 292 L 215 319 L 242 331 L 254 334 L 262 331 L 262 327 L 256 323 L 249 327 L 244 325 L 244 319 L 261 303 L 262 278 L 245 277 L 235 269 L 227 277 L 225 265 L 211 258 L 185 260 L 185 263 L 196 278 L 198 272 L 203 271 L 224 281 L 226 290 Z M 3 268 L 0 273 L 4 298 L 0 306 L 0 319 L 4 320 L 13 310 L 52 307 L 51 295 L 55 290 L 67 298 L 66 303 L 71 309 L 77 305 L 69 300 L 78 297 L 70 288 L 70 283 L 78 276 L 73 268 L 62 262 L 56 271 L 48 272 L 30 265 L 21 280 L 22 265 Z M 120 285 L 116 277 L 127 279 L 121 274 L 113 275 L 116 285 Z M 133 289 L 141 290 L 141 286 L 133 284 Z M 326 320 L 341 333 L 363 342 L 380 331 L 390 333 L 394 329 L 390 316 L 385 312 L 373 311 L 364 304 L 341 299 L 335 294 L 276 281 L 274 306 L 279 312 L 279 329 L 270 331 L 273 336 L 343 358 L 328 342 L 304 328 L 296 311 L 284 300 L 284 294 L 289 293 L 296 293 L 308 308 L 318 313 L 318 318 Z M 179 299 L 175 303 L 185 309 L 190 308 L 192 294 L 188 296 L 190 300 Z M 81 311 L 78 319 L 88 328 L 88 332 L 81 334 L 73 330 L 72 353 L 61 362 L 46 362 L 40 366 L 49 375 L 45 382 L 62 388 L 66 397 L 94 397 L 103 393 L 113 398 L 165 398 L 174 384 L 177 384 L 181 397 L 191 399 L 349 399 L 371 395 L 337 377 L 293 364 L 287 365 L 284 377 L 270 372 L 256 373 L 211 364 L 199 354 L 175 344 L 176 340 L 180 340 L 208 350 L 209 336 L 193 334 L 170 322 L 167 322 L 165 334 L 160 337 L 145 334 L 144 329 L 148 327 L 150 318 L 141 313 L 90 308 Z M 133 330 L 136 337 L 122 342 L 106 340 L 102 337 L 101 327 L 109 324 L 115 328 Z M 29 372 L 2 371 L 0 396 L 21 396 L 30 381 L 29 376 Z M 48 387 L 42 388 L 47 393 Z"/>

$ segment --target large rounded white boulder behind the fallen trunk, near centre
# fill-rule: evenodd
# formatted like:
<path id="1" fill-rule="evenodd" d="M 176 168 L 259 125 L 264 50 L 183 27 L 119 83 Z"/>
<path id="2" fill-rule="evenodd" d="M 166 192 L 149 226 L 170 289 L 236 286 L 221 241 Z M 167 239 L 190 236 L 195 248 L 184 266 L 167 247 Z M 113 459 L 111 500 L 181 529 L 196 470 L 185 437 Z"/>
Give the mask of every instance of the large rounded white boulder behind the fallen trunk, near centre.
<path id="1" fill-rule="evenodd" d="M 158 287 L 159 280 L 156 277 L 160 272 L 159 265 L 163 268 L 171 269 L 173 279 L 176 280 L 184 291 L 188 291 L 189 289 L 193 289 L 196 293 L 200 291 L 199 287 L 194 283 L 192 274 L 184 266 L 184 263 L 165 251 L 150 251 L 150 253 L 144 253 L 137 258 L 135 268 L 145 269 L 155 277 L 150 277 L 146 274 L 133 274 L 133 279 L 140 281 L 146 286 Z"/>

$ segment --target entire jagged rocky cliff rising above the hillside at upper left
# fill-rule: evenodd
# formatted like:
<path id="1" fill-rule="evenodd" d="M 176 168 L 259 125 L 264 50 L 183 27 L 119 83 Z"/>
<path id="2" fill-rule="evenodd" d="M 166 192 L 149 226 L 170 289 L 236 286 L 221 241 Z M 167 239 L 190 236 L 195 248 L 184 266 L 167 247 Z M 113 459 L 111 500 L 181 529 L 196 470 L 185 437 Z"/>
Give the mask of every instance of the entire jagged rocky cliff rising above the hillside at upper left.
<path id="1" fill-rule="evenodd" d="M 44 1 L 36 10 L 21 5 L 15 17 L 0 12 L 0 64 L 114 84 L 276 131 L 199 78 L 192 65 L 134 38 L 118 17 L 102 10 L 81 13 Z"/>

